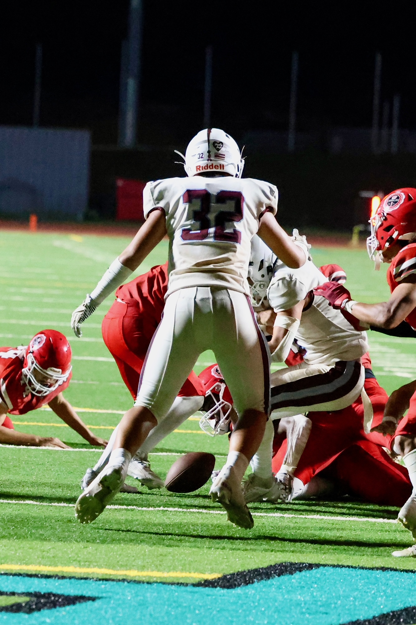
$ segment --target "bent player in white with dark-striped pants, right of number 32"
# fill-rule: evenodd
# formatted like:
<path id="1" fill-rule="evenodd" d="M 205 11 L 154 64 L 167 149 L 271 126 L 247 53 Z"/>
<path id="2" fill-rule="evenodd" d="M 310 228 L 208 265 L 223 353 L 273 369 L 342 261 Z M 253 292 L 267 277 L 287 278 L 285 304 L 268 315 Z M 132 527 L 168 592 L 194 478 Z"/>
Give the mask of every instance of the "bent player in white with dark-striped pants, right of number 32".
<path id="1" fill-rule="evenodd" d="M 254 241 L 254 266 L 261 266 L 270 256 L 266 246 Z M 334 310 L 324 297 L 314 296 L 313 289 L 327 278 L 308 259 L 300 269 L 290 269 L 280 260 L 270 263 L 269 281 L 258 320 L 272 335 L 269 348 L 272 360 L 283 362 L 294 339 L 304 348 L 303 362 L 271 374 L 271 419 L 313 411 L 336 411 L 350 406 L 364 386 L 364 367 L 360 358 L 369 350 L 367 335 L 352 316 Z M 253 274 L 253 271 L 252 271 Z M 259 294 L 256 286 L 256 294 Z M 334 314 L 337 313 L 337 314 Z M 370 401 L 363 397 L 365 427 L 372 419 Z M 268 422 L 263 441 L 253 456 L 253 473 L 244 482 L 246 501 L 272 496 L 271 470 L 273 424 Z M 288 467 L 288 472 L 293 472 Z"/>

